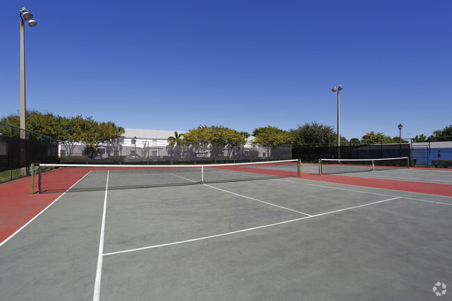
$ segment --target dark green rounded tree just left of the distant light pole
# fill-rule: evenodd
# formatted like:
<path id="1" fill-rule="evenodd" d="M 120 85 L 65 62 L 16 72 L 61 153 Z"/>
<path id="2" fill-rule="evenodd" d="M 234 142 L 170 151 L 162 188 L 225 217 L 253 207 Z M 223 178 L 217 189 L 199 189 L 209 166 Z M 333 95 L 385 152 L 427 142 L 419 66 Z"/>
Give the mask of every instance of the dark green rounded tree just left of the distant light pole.
<path id="1" fill-rule="evenodd" d="M 293 142 L 297 145 L 318 144 L 318 145 L 337 145 L 337 133 L 334 133 L 334 127 L 317 122 L 298 125 L 298 129 L 291 129 Z M 348 141 L 341 137 L 341 144 L 347 144 Z"/>

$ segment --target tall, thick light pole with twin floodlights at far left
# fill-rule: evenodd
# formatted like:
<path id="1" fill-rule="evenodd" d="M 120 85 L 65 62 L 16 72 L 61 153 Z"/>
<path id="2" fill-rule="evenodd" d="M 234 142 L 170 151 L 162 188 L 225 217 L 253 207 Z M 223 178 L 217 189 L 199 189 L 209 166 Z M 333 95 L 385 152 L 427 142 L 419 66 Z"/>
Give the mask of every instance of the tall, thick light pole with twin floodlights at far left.
<path id="1" fill-rule="evenodd" d="M 26 139 L 26 105 L 25 105 L 25 30 L 24 23 L 29 22 L 30 27 L 34 27 L 38 24 L 33 20 L 33 15 L 22 8 L 19 10 L 20 16 L 20 138 Z M 22 166 L 26 165 L 26 147 L 24 143 L 20 146 L 21 159 L 20 163 Z M 22 175 L 26 175 L 26 169 L 22 168 Z"/>

